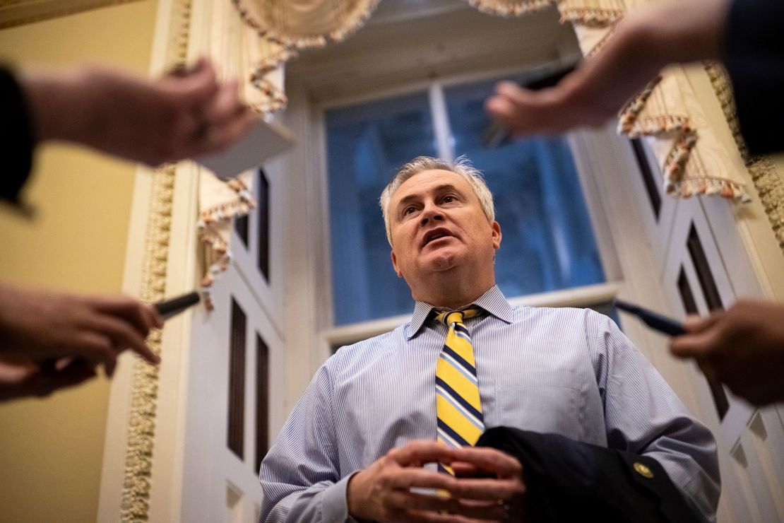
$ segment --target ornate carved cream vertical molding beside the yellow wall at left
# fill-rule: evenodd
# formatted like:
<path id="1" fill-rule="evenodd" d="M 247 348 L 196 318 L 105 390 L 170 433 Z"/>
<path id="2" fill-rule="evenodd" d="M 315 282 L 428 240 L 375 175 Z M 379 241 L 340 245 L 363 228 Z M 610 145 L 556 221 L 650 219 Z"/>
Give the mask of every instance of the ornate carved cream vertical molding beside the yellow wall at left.
<path id="1" fill-rule="evenodd" d="M 182 64 L 187 59 L 191 0 L 174 2 L 171 15 L 167 67 Z M 140 289 L 140 296 L 147 302 L 162 300 L 165 296 L 175 175 L 176 165 L 167 165 L 153 174 Z M 158 354 L 161 352 L 161 335 L 161 332 L 154 332 L 147 340 Z M 158 372 L 158 367 L 146 362 L 137 360 L 134 363 L 120 507 L 120 521 L 123 523 L 140 523 L 149 519 Z"/>

